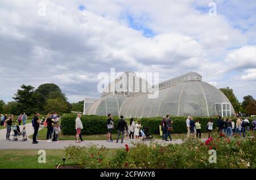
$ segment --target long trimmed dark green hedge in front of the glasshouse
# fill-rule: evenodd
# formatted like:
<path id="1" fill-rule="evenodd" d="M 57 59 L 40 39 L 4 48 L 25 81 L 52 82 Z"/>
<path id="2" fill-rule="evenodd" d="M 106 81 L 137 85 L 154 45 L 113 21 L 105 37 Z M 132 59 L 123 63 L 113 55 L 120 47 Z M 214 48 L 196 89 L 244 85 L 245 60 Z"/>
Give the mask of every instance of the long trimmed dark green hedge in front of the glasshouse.
<path id="1" fill-rule="evenodd" d="M 84 128 L 82 129 L 82 134 L 84 135 L 94 135 L 94 134 L 106 134 L 107 132 L 107 119 L 106 116 L 99 115 L 82 115 L 81 121 Z M 114 117 L 114 131 L 113 133 L 117 133 L 117 122 L 118 117 Z M 172 133 L 187 133 L 186 127 L 186 119 L 187 117 L 171 117 L 174 128 Z M 209 117 L 193 117 L 194 120 L 199 119 L 201 123 L 201 132 L 205 132 L 205 128 L 207 123 L 209 122 Z M 213 119 L 213 128 L 217 127 L 218 118 L 212 117 Z M 236 118 L 232 117 L 233 121 L 236 122 Z M 250 118 L 251 122 L 253 118 Z M 75 120 L 76 114 L 64 114 L 61 117 L 61 127 L 63 135 L 75 135 Z M 126 119 L 129 120 L 129 119 Z M 134 121 L 137 121 L 135 118 Z M 161 124 L 162 117 L 154 117 L 154 118 L 141 118 L 142 126 L 150 127 L 151 134 L 159 134 L 159 126 Z M 251 125 L 251 123 L 250 123 Z"/>

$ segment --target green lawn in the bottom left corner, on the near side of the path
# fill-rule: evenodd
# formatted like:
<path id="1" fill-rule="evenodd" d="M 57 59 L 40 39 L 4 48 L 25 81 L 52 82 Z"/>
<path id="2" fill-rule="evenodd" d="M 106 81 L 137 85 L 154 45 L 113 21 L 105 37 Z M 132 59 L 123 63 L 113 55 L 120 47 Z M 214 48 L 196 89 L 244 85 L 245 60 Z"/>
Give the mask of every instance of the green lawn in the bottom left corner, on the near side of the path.
<path id="1" fill-rule="evenodd" d="M 38 163 L 38 150 L 0 150 L 0 168 L 54 169 L 55 165 L 63 164 L 64 149 L 47 149 L 46 164 Z M 68 161 L 65 161 L 68 164 Z"/>

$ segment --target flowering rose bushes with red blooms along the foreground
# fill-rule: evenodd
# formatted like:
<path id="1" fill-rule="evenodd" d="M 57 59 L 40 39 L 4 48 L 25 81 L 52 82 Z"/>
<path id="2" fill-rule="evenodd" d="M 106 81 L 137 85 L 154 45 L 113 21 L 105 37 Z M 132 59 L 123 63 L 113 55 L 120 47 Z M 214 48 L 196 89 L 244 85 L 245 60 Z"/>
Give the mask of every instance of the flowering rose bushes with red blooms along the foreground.
<path id="1" fill-rule="evenodd" d="M 209 150 L 217 152 L 217 162 L 209 162 Z M 256 168 L 255 138 L 229 139 L 217 134 L 207 142 L 198 139 L 184 140 L 182 144 L 162 146 L 151 142 L 134 143 L 129 149 L 118 149 L 110 153 L 104 147 L 67 147 L 66 155 L 82 168 L 128 168 L 128 169 L 195 169 L 195 168 Z M 103 155 L 103 156 L 102 156 Z M 99 161 L 100 159 L 100 161 Z"/>

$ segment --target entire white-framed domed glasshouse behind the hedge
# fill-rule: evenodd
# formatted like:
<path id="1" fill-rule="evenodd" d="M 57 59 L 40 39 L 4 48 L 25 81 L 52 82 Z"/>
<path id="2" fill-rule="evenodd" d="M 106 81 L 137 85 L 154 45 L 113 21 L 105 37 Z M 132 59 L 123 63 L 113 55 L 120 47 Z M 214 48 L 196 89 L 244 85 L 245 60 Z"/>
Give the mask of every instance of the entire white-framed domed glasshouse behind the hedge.
<path id="1" fill-rule="evenodd" d="M 123 76 L 126 77 L 124 81 Z M 114 91 L 109 91 L 114 87 Z M 143 91 L 143 87 L 151 91 Z M 213 116 L 222 117 L 234 114 L 228 98 L 217 88 L 202 81 L 196 72 L 177 76 L 158 84 L 158 96 L 146 80 L 134 72 L 125 72 L 110 83 L 101 98 L 85 98 L 84 114 L 123 115 L 124 117 L 163 117 L 172 116 Z"/>

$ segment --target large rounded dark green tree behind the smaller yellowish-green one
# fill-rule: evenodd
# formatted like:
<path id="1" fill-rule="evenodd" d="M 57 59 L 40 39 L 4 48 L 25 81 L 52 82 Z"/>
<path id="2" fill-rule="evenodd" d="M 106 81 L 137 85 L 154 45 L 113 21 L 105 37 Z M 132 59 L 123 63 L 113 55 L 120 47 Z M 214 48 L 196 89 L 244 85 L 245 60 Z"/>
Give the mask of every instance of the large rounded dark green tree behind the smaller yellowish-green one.
<path id="1" fill-rule="evenodd" d="M 65 101 L 67 101 L 67 97 L 65 96 L 64 93 L 61 92 L 60 87 L 53 83 L 41 84 L 35 90 L 35 92 L 39 94 L 40 109 L 43 109 L 43 106 L 44 106 L 44 104 L 46 104 L 46 101 L 48 99 L 61 98 L 63 100 L 65 99 Z"/>

